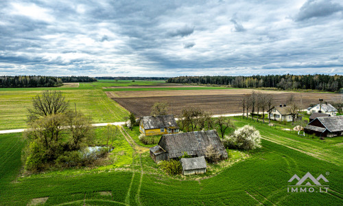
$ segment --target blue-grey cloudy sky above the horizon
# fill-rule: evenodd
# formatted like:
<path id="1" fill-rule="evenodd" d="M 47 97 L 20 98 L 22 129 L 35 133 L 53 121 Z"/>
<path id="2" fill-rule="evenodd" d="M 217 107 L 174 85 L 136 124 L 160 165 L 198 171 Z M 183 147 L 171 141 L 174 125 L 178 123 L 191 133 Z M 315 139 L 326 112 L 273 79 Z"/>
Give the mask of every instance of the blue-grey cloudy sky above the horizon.
<path id="1" fill-rule="evenodd" d="M 0 1 L 0 75 L 343 74 L 341 0 Z"/>

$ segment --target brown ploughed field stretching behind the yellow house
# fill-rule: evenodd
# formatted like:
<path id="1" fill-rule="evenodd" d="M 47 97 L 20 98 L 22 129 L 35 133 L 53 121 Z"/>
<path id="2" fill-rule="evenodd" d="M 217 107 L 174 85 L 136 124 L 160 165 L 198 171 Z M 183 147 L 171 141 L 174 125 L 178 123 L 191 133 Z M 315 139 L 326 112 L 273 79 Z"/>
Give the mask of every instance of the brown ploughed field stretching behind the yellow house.
<path id="1" fill-rule="evenodd" d="M 198 87 L 199 88 L 199 87 Z M 210 87 L 215 88 L 215 87 Z M 178 91 L 106 91 L 121 106 L 135 115 L 150 115 L 150 108 L 154 102 L 169 102 L 171 113 L 180 115 L 182 108 L 198 106 L 204 111 L 211 111 L 213 115 L 227 113 L 242 113 L 239 106 L 244 94 L 252 89 L 215 89 L 215 90 L 178 90 Z M 255 90 L 256 91 L 256 90 Z M 303 108 L 311 103 L 317 103 L 319 98 L 326 101 L 340 101 L 342 94 L 335 93 L 291 93 L 283 91 L 260 91 L 274 95 L 276 104 L 286 102 L 289 95 L 295 95 Z"/>

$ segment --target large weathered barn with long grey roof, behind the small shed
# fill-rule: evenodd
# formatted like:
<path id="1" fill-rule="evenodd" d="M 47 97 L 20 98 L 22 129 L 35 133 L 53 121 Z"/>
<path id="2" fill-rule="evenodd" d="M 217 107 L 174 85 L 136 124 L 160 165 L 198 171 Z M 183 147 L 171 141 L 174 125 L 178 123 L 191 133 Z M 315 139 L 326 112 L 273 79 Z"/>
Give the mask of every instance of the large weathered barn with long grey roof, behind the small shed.
<path id="1" fill-rule="evenodd" d="M 219 153 L 220 159 L 228 158 L 228 153 L 215 130 L 162 135 L 158 145 L 150 148 L 150 157 L 156 163 L 178 158 L 184 155 L 184 152 L 192 157 L 206 157 L 206 148 L 210 145 Z"/>

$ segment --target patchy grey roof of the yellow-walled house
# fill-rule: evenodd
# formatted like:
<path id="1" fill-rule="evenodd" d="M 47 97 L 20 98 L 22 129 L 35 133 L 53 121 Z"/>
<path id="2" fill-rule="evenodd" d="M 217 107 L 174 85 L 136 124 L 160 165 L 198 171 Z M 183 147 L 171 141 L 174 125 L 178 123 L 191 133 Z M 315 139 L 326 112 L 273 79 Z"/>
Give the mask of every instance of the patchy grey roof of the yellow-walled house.
<path id="1" fill-rule="evenodd" d="M 178 128 L 178 124 L 176 124 L 173 115 L 145 116 L 141 117 L 141 121 L 143 122 L 145 130 L 169 127 Z"/>

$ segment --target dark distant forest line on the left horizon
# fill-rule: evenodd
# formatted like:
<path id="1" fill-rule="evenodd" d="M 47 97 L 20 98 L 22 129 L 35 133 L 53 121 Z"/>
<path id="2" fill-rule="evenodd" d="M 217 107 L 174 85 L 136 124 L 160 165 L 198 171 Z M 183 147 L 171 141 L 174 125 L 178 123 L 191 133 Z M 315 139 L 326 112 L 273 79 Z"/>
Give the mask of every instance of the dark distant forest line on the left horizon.
<path id="1" fill-rule="evenodd" d="M 63 82 L 96 82 L 95 78 L 88 76 L 0 76 L 0 87 L 60 87 Z"/>

